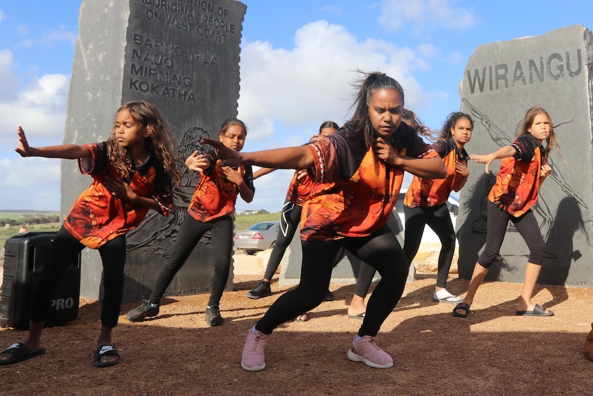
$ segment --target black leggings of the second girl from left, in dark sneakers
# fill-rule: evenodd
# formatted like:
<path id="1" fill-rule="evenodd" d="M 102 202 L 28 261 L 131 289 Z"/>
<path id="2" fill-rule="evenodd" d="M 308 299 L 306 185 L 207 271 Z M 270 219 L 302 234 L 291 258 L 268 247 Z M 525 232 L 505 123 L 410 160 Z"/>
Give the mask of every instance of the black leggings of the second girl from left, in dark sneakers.
<path id="1" fill-rule="evenodd" d="M 214 278 L 208 305 L 218 305 L 230 271 L 230 257 L 233 253 L 233 218 L 223 216 L 210 222 L 195 220 L 192 216 L 185 216 L 177 233 L 175 244 L 171 248 L 172 254 L 158 275 L 155 288 L 149 298 L 153 304 L 159 304 L 162 295 L 175 278 L 177 272 L 183 267 L 187 258 L 200 242 L 206 231 L 210 230 L 213 241 Z"/>

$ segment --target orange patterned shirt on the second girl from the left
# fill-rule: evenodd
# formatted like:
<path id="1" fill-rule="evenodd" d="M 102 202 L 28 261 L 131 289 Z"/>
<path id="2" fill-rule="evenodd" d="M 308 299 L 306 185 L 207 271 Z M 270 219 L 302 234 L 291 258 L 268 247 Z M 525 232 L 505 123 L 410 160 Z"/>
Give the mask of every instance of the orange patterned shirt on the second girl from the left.
<path id="1" fill-rule="evenodd" d="M 201 222 L 208 222 L 222 216 L 232 216 L 239 194 L 237 185 L 224 176 L 221 169 L 222 160 L 211 158 L 211 163 L 214 165 L 200 175 L 200 181 L 195 186 L 187 209 L 191 217 Z M 241 165 L 240 169 L 246 185 L 255 191 L 251 166 Z"/>

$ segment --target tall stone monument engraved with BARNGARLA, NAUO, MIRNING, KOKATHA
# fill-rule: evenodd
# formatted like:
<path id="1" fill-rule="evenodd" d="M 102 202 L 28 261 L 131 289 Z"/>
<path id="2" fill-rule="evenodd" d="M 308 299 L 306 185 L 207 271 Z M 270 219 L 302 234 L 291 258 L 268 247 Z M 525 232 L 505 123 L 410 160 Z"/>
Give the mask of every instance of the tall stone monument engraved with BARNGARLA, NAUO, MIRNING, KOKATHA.
<path id="1" fill-rule="evenodd" d="M 246 6 L 233 0 L 83 0 L 64 142 L 106 140 L 120 104 L 144 99 L 173 127 L 180 158 L 202 150 L 203 136 L 217 136 L 222 122 L 237 116 L 245 12 Z M 197 183 L 195 172 L 183 170 L 174 213 L 164 217 L 151 211 L 127 235 L 124 301 L 148 296 L 169 256 Z M 71 160 L 63 162 L 63 215 L 90 183 Z M 210 291 L 211 249 L 215 243 L 200 242 L 166 295 Z M 206 264 L 197 266 L 197 260 Z M 98 252 L 85 249 L 80 295 L 100 298 L 101 273 Z M 227 288 L 233 285 L 229 278 Z"/>

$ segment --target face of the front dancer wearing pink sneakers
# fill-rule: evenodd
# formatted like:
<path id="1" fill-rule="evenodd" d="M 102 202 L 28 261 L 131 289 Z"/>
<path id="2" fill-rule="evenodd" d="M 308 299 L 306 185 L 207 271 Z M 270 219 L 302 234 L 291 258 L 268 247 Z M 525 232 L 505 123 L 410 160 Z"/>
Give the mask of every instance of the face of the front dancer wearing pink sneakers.
<path id="1" fill-rule="evenodd" d="M 371 95 L 369 106 L 369 120 L 379 136 L 391 140 L 391 135 L 396 132 L 402 121 L 404 103 L 402 96 L 391 88 L 376 90 Z"/>

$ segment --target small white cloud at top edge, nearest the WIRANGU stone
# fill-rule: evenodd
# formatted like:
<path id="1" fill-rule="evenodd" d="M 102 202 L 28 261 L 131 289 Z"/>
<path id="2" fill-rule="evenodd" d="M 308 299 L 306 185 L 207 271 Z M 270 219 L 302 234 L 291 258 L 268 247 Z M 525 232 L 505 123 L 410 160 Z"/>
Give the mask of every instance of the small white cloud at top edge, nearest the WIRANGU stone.
<path id="1" fill-rule="evenodd" d="M 378 21 L 387 31 L 406 26 L 418 36 L 435 28 L 465 31 L 476 24 L 471 8 L 455 7 L 459 0 L 382 0 Z"/>

